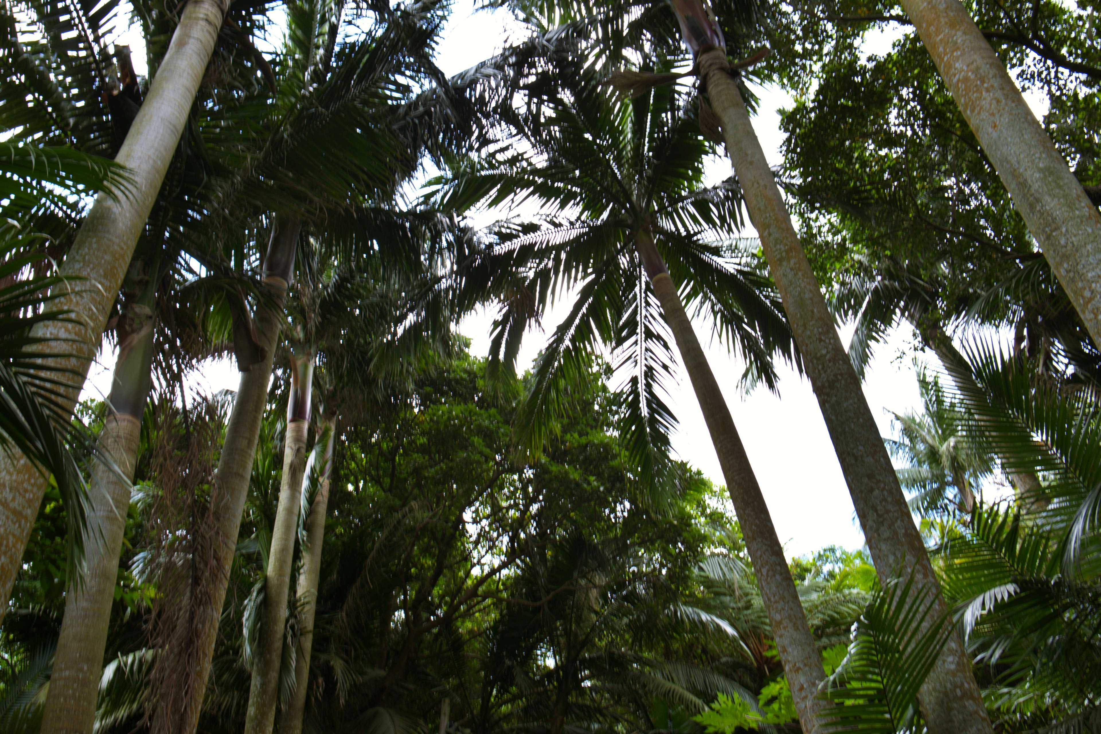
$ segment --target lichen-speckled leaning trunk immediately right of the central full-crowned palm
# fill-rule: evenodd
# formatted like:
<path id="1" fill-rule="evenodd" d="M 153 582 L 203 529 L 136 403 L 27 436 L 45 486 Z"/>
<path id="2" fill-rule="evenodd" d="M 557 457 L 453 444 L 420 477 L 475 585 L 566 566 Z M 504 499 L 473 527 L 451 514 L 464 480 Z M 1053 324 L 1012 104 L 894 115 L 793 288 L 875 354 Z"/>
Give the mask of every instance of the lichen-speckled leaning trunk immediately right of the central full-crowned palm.
<path id="1" fill-rule="evenodd" d="M 931 622 L 947 611 L 940 584 L 864 399 L 860 379 L 841 346 L 826 299 L 753 131 L 745 102 L 730 74 L 726 51 L 711 48 L 701 53 L 699 68 L 711 107 L 722 123 L 750 219 L 761 235 L 875 569 L 884 581 L 895 573 L 913 572 L 915 587 L 936 600 L 929 615 Z M 971 660 L 956 634 L 922 687 L 922 711 L 934 734 L 993 731 Z"/>

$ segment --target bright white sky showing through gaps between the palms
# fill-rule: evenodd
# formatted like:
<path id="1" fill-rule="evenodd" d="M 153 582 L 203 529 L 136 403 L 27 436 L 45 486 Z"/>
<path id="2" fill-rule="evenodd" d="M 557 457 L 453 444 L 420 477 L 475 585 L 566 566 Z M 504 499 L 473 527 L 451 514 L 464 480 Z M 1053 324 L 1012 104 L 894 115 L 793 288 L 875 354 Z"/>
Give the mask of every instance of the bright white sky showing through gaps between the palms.
<path id="1" fill-rule="evenodd" d="M 140 46 L 138 34 L 128 35 L 132 35 L 128 40 L 137 51 Z M 470 0 L 457 0 L 438 48 L 437 63 L 446 73 L 455 74 L 500 51 L 510 36 L 519 40 L 523 35 L 522 26 L 506 12 L 471 13 Z M 885 33 L 871 40 L 866 50 L 882 53 L 890 47 L 892 35 Z M 144 66 L 143 54 L 135 54 L 134 61 Z M 143 72 L 139 69 L 139 73 Z M 791 105 L 792 100 L 778 89 L 761 88 L 756 91 L 761 97 L 761 109 L 754 127 L 768 162 L 777 165 L 781 163 L 780 146 L 783 141 L 777 109 Z M 1034 109 L 1036 107 L 1039 105 Z M 1045 110 L 1040 108 L 1036 111 L 1042 113 Z M 712 160 L 707 169 L 708 183 L 726 178 L 729 171 L 729 163 L 724 160 Z M 752 235 L 753 232 L 743 234 Z M 544 321 L 544 330 L 527 336 L 517 369 L 523 371 L 531 365 L 532 359 L 564 316 L 563 307 L 552 309 Z M 471 350 L 477 355 L 484 355 L 489 349 L 491 324 L 492 311 L 481 311 L 459 325 L 459 331 L 472 340 Z M 710 331 L 705 325 L 697 325 L 697 333 L 708 349 L 711 369 L 723 386 L 780 540 L 788 555 L 810 554 L 831 544 L 847 548 L 862 545 L 862 535 L 853 519 L 852 502 L 809 382 L 781 365 L 778 397 L 764 388 L 742 395 L 737 382 L 743 365 L 721 346 L 708 347 Z M 843 343 L 848 344 L 849 336 L 850 330 L 842 329 Z M 887 343 L 880 347 L 868 370 L 864 395 L 884 435 L 891 434 L 889 410 L 904 413 L 919 405 L 913 348 L 909 328 L 897 329 Z M 108 392 L 113 361 L 113 353 L 105 349 L 101 362 L 91 369 L 85 397 L 102 396 Z M 229 360 L 221 360 L 205 365 L 190 379 L 189 388 L 209 394 L 224 388 L 236 390 L 237 383 L 236 368 Z M 680 420 L 673 437 L 674 449 L 679 458 L 699 468 L 717 485 L 724 484 L 699 406 L 679 365 L 676 384 L 671 385 L 671 390 L 669 406 Z"/>

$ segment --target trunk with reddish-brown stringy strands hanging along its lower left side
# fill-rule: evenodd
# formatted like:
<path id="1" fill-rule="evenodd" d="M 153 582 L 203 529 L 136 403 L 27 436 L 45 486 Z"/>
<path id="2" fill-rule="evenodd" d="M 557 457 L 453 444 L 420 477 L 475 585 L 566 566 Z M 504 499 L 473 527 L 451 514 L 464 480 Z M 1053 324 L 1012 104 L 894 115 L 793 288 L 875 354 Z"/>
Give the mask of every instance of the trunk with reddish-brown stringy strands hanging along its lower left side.
<path id="1" fill-rule="evenodd" d="M 194 734 L 198 727 L 215 643 L 218 639 L 218 622 L 229 584 L 229 570 L 233 563 L 241 515 L 249 495 L 257 439 L 260 436 L 264 406 L 268 404 L 272 357 L 279 339 L 283 299 L 294 271 L 294 251 L 299 228 L 301 223 L 296 219 L 279 218 L 272 229 L 268 258 L 264 261 L 264 284 L 273 291 L 274 303 L 270 308 L 260 308 L 257 313 L 255 333 L 260 360 L 251 365 L 240 365 L 248 371 L 241 372 L 241 382 L 237 388 L 215 474 L 210 516 L 216 524 L 208 528 L 211 534 L 209 540 L 212 545 L 212 566 L 197 574 L 196 583 L 200 589 L 195 593 L 197 601 L 192 609 L 193 633 L 189 645 L 193 647 L 166 650 L 163 661 L 163 665 L 174 665 L 175 661 L 186 665 L 193 675 L 183 689 L 159 692 L 153 714 L 153 731 L 159 734 Z"/>

